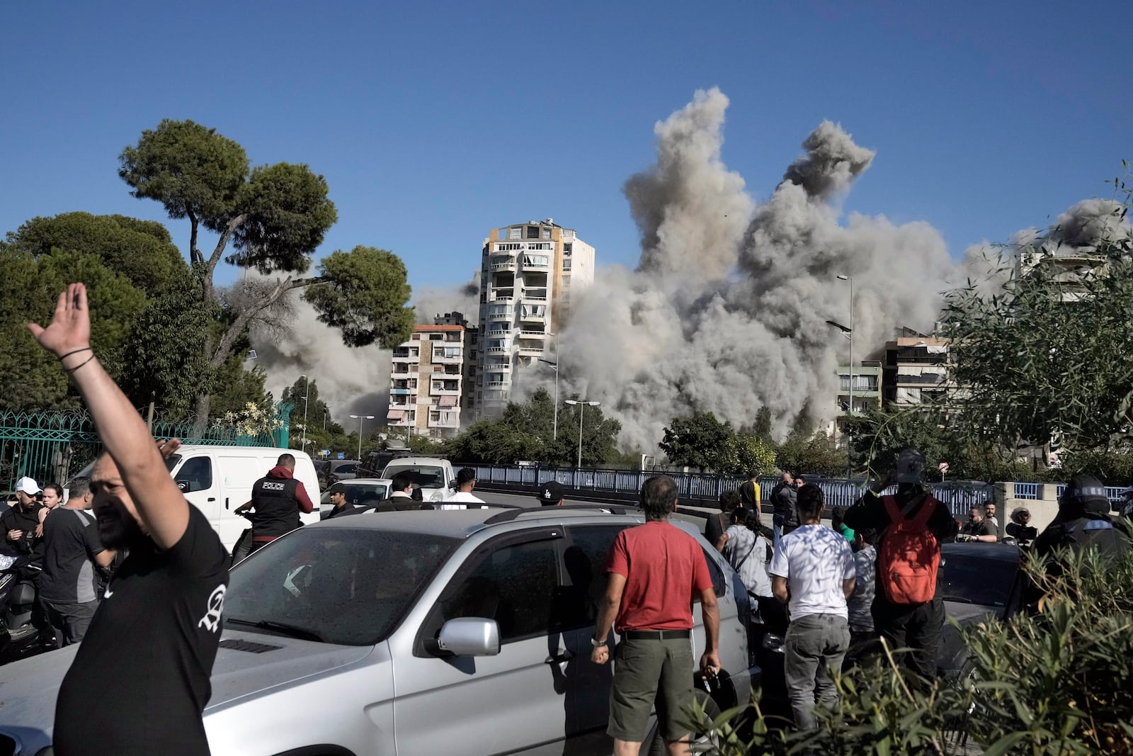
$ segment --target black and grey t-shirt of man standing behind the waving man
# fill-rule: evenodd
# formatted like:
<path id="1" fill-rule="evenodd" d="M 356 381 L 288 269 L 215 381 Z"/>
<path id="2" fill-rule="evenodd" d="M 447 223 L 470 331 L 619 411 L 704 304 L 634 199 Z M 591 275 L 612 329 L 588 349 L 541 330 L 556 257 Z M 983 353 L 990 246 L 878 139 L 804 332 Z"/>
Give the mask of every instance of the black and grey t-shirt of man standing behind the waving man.
<path id="1" fill-rule="evenodd" d="M 43 575 L 40 598 L 54 604 L 84 604 L 99 597 L 95 554 L 103 551 L 94 517 L 59 507 L 43 520 Z"/>

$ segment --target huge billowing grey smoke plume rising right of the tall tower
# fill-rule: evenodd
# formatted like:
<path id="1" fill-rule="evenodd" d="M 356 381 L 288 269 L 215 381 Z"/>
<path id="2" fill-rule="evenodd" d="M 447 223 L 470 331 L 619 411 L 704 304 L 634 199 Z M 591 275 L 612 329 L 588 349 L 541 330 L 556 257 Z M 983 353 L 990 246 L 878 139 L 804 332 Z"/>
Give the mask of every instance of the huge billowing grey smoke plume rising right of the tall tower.
<path id="1" fill-rule="evenodd" d="M 744 426 L 766 406 L 780 433 L 800 417 L 830 421 L 850 345 L 826 321 L 852 322 L 855 362 L 877 357 L 897 326 L 930 331 L 959 281 L 929 224 L 843 222 L 835 201 L 874 152 L 836 124 L 807 137 L 756 205 L 721 159 L 726 107 L 718 90 L 698 92 L 657 125 L 657 162 L 624 189 L 638 270 L 604 269 L 560 339 L 561 390 L 602 401 L 624 448 L 655 450 L 670 419 L 693 410 Z M 853 279 L 852 315 L 838 275 Z"/>

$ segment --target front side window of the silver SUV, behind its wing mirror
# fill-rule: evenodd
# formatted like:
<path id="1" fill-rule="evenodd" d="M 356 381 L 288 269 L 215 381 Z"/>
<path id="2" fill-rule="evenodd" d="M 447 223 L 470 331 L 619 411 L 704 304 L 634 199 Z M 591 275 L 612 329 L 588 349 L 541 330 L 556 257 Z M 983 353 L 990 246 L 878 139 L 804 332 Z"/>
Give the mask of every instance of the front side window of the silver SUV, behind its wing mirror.
<path id="1" fill-rule="evenodd" d="M 480 617 L 500 626 L 500 642 L 545 636 L 553 625 L 559 585 L 556 541 L 501 546 L 486 554 L 470 574 L 458 577 L 434 606 L 427 635 L 459 617 Z"/>

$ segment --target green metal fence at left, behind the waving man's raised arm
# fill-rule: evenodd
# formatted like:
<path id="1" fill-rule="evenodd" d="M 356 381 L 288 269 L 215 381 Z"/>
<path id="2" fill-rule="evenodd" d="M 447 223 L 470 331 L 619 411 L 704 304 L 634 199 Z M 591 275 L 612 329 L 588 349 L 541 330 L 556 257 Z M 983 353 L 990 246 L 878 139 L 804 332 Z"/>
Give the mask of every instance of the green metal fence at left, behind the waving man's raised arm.
<path id="1" fill-rule="evenodd" d="M 280 402 L 275 417 L 287 418 L 289 402 Z M 288 445 L 288 426 L 261 435 L 242 435 L 233 428 L 210 428 L 195 438 L 191 423 L 154 423 L 155 439 L 180 439 L 184 443 L 240 447 Z M 85 411 L 52 410 L 41 413 L 0 411 L 0 492 L 15 489 L 25 475 L 42 486 L 68 481 L 94 461 L 102 441 L 94 422 Z"/>

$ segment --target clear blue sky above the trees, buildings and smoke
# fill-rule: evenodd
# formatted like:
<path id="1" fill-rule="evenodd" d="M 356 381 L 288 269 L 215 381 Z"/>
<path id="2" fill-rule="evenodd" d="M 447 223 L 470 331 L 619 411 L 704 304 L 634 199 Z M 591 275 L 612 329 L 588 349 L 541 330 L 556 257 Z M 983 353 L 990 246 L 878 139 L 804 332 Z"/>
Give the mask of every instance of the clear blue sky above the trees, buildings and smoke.
<path id="1" fill-rule="evenodd" d="M 39 2 L 0 24 L 0 231 L 165 220 L 117 159 L 190 118 L 323 173 L 318 254 L 392 249 L 414 284 L 467 280 L 529 218 L 633 265 L 622 184 L 697 88 L 731 97 L 724 161 L 757 199 L 828 118 L 878 153 L 846 211 L 927 221 L 953 255 L 1109 196 L 1133 158 L 1127 2 Z"/>

